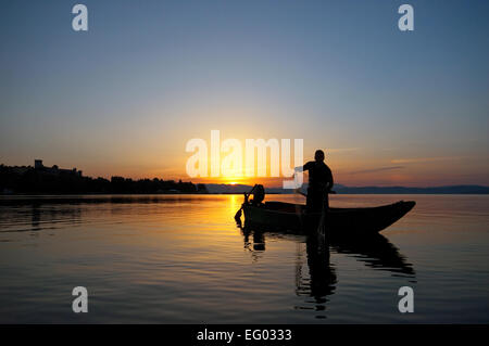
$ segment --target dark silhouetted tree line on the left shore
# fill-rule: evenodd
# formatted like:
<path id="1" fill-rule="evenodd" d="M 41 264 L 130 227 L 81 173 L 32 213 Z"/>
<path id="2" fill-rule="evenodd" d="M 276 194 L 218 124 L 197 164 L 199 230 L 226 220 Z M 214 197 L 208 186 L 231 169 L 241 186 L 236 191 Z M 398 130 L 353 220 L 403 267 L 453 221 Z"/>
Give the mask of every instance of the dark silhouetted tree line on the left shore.
<path id="1" fill-rule="evenodd" d="M 0 165 L 0 193 L 88 194 L 88 193 L 208 193 L 204 184 L 174 180 L 112 177 L 82 177 L 52 169 Z"/>

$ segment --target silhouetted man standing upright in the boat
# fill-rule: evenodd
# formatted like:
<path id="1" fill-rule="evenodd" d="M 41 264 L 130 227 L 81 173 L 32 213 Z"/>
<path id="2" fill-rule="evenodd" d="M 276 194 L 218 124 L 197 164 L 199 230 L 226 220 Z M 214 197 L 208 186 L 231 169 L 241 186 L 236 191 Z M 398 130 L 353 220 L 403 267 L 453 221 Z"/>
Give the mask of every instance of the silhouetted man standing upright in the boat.
<path id="1" fill-rule="evenodd" d="M 324 163 L 324 152 L 316 150 L 314 161 L 310 161 L 302 167 L 297 167 L 296 170 L 309 171 L 308 210 L 321 212 L 323 201 L 328 208 L 328 193 L 333 189 L 334 181 L 331 170 Z"/>

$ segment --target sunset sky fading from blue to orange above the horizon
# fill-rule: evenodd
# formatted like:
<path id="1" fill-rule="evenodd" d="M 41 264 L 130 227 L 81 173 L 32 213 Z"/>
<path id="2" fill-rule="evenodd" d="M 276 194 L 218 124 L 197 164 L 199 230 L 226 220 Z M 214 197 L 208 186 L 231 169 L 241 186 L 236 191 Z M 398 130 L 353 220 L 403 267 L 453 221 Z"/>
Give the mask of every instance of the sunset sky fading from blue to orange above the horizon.
<path id="1" fill-rule="evenodd" d="M 0 7 L 0 163 L 236 181 L 186 174 L 187 141 L 220 130 L 303 139 L 347 185 L 489 185 L 488 1 Z"/>

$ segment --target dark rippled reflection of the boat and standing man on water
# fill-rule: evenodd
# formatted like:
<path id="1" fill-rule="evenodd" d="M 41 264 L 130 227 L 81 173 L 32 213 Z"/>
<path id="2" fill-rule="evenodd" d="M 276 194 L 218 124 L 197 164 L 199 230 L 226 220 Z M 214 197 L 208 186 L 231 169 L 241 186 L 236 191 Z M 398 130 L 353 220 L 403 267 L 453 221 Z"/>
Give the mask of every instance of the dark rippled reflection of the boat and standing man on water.
<path id="1" fill-rule="evenodd" d="M 326 310 L 329 296 L 335 294 L 338 283 L 337 268 L 330 261 L 330 252 L 346 254 L 363 262 L 367 267 L 381 269 L 392 273 L 392 275 L 403 275 L 415 281 L 415 271 L 406 258 L 399 253 L 399 249 L 391 244 L 384 235 L 378 233 L 360 240 L 344 238 L 328 238 L 311 231 L 269 231 L 256 225 L 242 226 L 239 219 L 236 220 L 241 230 L 244 241 L 244 248 L 252 252 L 255 259 L 256 254 L 266 249 L 266 239 L 280 238 L 286 235 L 300 239 L 296 256 L 296 294 L 306 297 L 309 306 L 296 306 L 296 309 Z M 303 244 L 305 243 L 305 255 L 308 272 L 303 269 Z M 317 318 L 326 318 L 318 315 Z"/>

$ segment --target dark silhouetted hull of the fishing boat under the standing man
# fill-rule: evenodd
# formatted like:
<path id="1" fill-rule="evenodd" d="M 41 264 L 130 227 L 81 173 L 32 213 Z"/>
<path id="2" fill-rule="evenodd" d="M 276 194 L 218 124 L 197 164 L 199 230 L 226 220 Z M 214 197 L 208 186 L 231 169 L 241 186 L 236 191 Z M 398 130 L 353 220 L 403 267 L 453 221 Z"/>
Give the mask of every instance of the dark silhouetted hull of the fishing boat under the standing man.
<path id="1" fill-rule="evenodd" d="M 335 234 L 372 234 L 389 227 L 415 205 L 415 202 L 367 208 L 329 208 L 326 213 L 326 228 Z M 274 229 L 308 230 L 319 223 L 321 213 L 306 213 L 305 206 L 284 202 L 242 205 L 249 225 L 261 225 Z"/>

